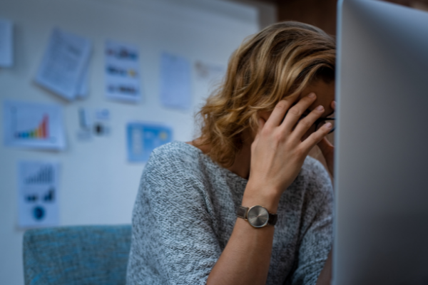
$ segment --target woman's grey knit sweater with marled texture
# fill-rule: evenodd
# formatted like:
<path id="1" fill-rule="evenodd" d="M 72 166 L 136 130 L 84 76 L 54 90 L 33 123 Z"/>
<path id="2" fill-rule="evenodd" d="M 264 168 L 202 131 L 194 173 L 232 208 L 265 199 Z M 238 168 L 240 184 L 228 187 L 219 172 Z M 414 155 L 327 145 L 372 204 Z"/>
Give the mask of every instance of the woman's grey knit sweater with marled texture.
<path id="1" fill-rule="evenodd" d="M 247 182 L 185 142 L 153 150 L 133 209 L 126 284 L 205 284 Z M 320 162 L 306 158 L 277 214 L 266 284 L 315 284 L 332 244 L 332 185 Z"/>

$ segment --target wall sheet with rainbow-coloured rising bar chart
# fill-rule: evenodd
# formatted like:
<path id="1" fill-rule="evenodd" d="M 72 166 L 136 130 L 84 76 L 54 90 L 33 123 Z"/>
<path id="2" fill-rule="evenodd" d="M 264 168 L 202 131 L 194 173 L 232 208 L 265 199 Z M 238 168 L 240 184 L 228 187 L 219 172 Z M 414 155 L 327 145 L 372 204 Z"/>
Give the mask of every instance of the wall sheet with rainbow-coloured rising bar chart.
<path id="1" fill-rule="evenodd" d="M 52 150 L 66 147 L 61 106 L 6 100 L 3 107 L 5 145 Z"/>

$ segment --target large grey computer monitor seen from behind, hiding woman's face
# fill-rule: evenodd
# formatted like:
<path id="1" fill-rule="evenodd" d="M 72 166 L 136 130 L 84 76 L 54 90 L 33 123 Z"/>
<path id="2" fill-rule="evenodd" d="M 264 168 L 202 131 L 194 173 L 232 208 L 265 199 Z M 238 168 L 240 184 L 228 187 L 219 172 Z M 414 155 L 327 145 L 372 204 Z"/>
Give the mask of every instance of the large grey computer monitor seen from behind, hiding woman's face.
<path id="1" fill-rule="evenodd" d="M 335 285 L 428 284 L 428 13 L 341 0 Z"/>

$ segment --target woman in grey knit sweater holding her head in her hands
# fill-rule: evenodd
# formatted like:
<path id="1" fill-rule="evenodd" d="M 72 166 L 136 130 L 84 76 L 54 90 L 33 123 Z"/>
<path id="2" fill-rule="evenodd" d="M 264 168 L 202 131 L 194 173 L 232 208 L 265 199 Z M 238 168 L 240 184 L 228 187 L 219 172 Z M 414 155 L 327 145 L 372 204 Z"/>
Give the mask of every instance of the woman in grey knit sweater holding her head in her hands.
<path id="1" fill-rule="evenodd" d="M 332 185 L 307 153 L 320 145 L 331 170 L 334 70 L 334 39 L 297 22 L 233 53 L 200 137 L 143 171 L 128 285 L 327 284 Z"/>

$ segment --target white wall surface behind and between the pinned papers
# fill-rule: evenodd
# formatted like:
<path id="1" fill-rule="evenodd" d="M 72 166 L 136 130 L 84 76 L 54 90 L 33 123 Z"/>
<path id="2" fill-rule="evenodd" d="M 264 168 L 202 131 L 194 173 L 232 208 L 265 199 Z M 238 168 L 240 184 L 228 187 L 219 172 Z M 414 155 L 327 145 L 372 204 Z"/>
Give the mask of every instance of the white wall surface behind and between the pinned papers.
<path id="1" fill-rule="evenodd" d="M 17 162 L 53 159 L 61 163 L 61 225 L 130 223 L 143 165 L 126 160 L 126 123 L 165 122 L 173 127 L 175 140 L 193 138 L 193 111 L 168 110 L 158 100 L 161 51 L 180 54 L 193 63 L 226 65 L 243 38 L 258 31 L 258 13 L 250 6 L 214 0 L 0 0 L 0 17 L 15 24 L 15 65 L 0 69 L 1 103 L 14 99 L 62 105 L 68 142 L 63 152 L 0 145 L 0 284 L 14 285 L 24 284 L 24 231 L 16 227 Z M 93 42 L 91 95 L 86 100 L 67 103 L 31 83 L 53 26 Z M 133 105 L 104 98 L 106 38 L 140 48 L 143 102 Z M 192 88 L 196 110 L 208 86 L 193 80 Z M 111 135 L 78 141 L 78 108 L 82 106 L 111 110 Z"/>

